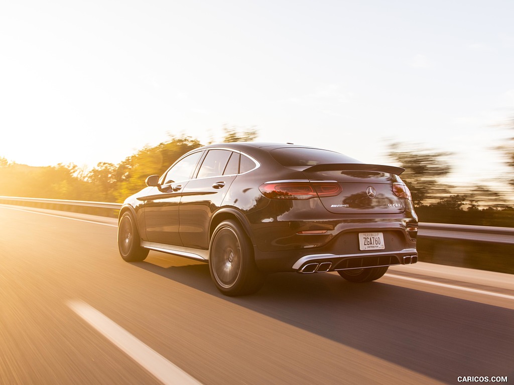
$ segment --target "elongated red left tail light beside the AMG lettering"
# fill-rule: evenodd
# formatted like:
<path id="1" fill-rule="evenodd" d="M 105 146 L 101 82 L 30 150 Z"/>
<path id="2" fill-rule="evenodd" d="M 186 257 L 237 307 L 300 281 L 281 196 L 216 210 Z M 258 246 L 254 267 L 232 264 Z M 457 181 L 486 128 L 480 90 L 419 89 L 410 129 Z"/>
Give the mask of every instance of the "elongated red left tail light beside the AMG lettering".
<path id="1" fill-rule="evenodd" d="M 334 197 L 342 189 L 337 182 L 276 181 L 261 184 L 259 190 L 269 199 L 310 199 Z"/>

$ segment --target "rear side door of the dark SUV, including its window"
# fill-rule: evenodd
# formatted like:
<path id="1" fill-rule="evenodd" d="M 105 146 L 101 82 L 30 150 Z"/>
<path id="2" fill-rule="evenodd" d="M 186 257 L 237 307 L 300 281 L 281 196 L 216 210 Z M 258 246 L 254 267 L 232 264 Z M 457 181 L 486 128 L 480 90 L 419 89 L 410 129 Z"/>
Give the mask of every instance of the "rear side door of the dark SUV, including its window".
<path id="1" fill-rule="evenodd" d="M 210 149 L 196 178 L 182 190 L 180 238 L 183 246 L 208 249 L 209 225 L 222 205 L 239 172 L 240 154 L 228 149 Z"/>

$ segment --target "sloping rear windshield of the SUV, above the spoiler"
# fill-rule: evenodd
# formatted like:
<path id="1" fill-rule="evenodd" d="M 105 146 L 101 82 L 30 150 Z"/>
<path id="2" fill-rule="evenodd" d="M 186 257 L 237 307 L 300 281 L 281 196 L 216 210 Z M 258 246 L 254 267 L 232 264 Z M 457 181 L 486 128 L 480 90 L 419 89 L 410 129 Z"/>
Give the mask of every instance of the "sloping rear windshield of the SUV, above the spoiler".
<path id="1" fill-rule="evenodd" d="M 320 148 L 285 147 L 272 150 L 271 156 L 286 167 L 316 166 L 317 164 L 362 163 L 339 152 Z"/>

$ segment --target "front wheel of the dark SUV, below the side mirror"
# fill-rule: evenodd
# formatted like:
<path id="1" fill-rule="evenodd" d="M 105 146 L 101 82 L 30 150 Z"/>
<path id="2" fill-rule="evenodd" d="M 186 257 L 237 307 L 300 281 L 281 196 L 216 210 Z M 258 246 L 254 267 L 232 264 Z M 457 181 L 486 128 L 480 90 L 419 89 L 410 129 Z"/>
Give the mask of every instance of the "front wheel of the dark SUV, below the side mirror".
<path id="1" fill-rule="evenodd" d="M 130 211 L 125 211 L 118 223 L 118 249 L 121 258 L 127 262 L 143 261 L 149 253 L 148 249 L 141 247 L 141 238 Z"/>

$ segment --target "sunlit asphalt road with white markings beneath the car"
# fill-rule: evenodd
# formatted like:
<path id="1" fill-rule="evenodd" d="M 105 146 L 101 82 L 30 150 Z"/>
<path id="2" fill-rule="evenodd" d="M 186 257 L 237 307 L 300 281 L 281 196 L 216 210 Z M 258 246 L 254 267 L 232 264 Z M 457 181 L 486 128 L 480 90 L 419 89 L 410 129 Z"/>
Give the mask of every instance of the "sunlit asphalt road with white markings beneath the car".
<path id="1" fill-rule="evenodd" d="M 514 382 L 512 278 L 418 263 L 228 298 L 207 264 L 124 262 L 115 220 L 0 206 L 0 384 Z"/>

